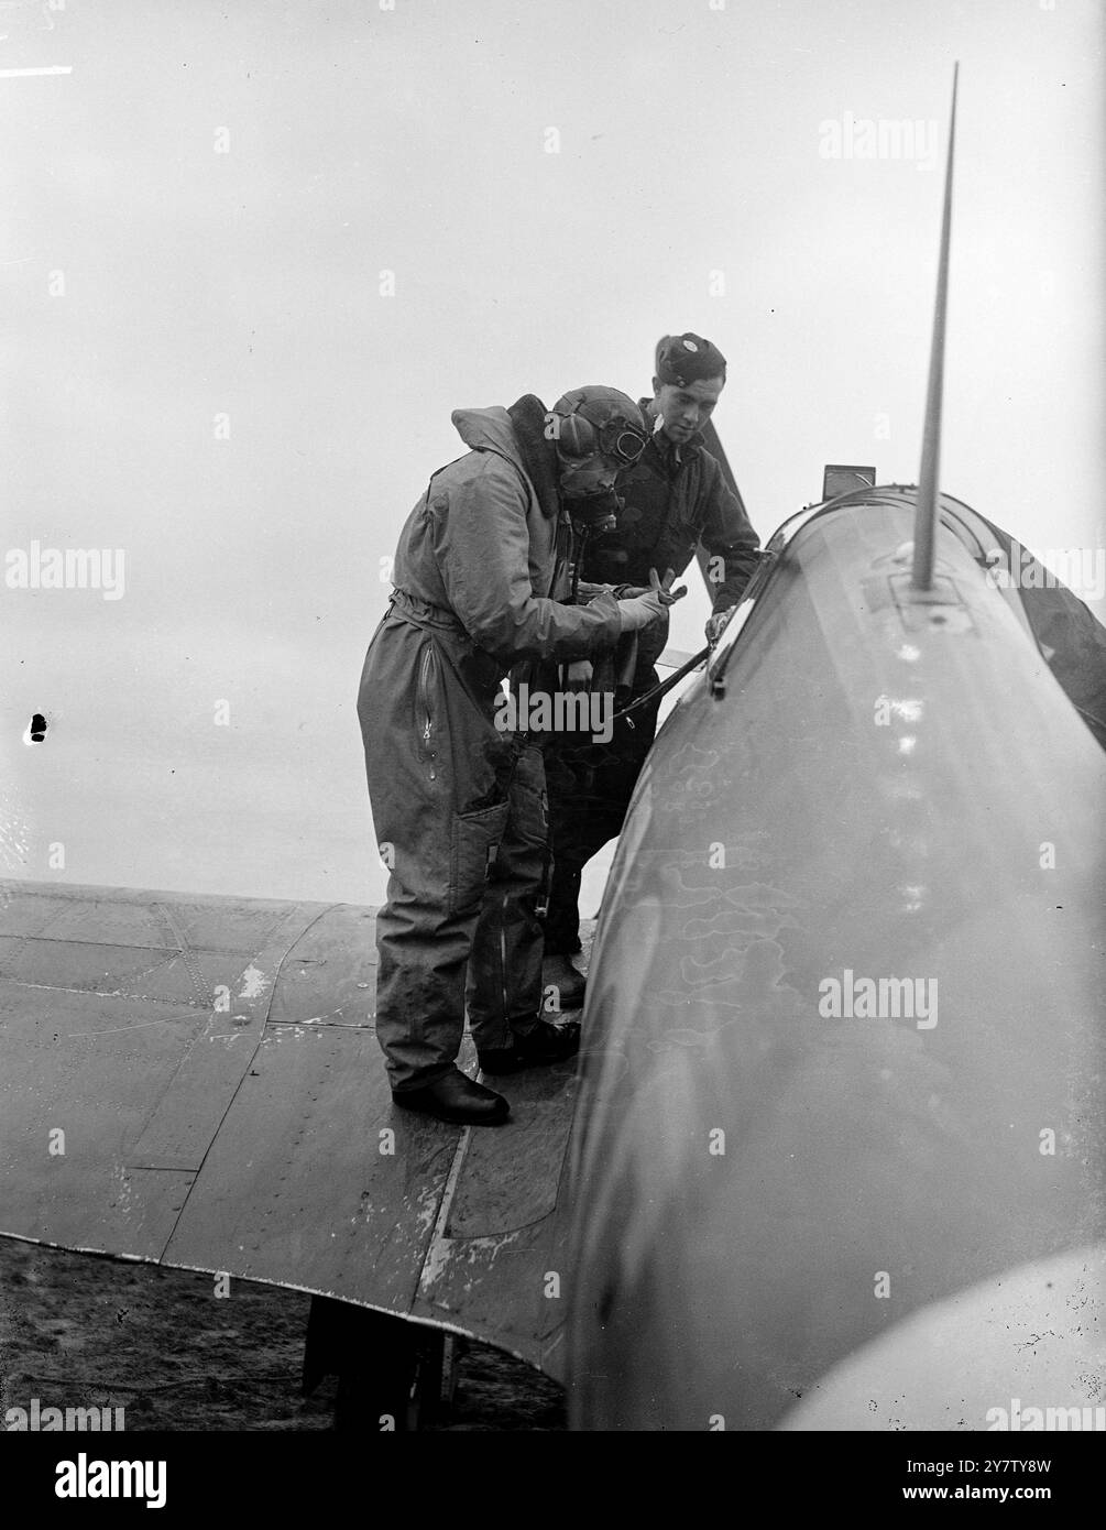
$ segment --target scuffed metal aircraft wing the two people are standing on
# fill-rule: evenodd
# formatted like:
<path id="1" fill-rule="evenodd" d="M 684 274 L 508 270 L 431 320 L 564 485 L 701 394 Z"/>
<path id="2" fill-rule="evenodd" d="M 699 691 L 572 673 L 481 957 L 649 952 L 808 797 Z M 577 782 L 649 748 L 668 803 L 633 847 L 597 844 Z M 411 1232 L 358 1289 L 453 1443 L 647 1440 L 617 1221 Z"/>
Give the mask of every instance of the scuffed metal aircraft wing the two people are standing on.
<path id="1" fill-rule="evenodd" d="M 557 1375 L 575 1069 L 497 1082 L 509 1131 L 398 1111 L 375 962 L 350 904 L 0 884 L 0 1233 L 338 1297 Z"/>

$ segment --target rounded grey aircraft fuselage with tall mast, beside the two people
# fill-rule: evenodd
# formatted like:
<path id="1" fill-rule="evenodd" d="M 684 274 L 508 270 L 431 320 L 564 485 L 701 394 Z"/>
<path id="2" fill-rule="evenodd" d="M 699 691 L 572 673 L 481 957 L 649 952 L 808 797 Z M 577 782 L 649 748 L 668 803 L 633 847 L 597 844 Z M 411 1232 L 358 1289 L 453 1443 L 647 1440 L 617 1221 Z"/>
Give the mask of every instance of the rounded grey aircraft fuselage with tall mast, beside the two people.
<path id="1" fill-rule="evenodd" d="M 903 594 L 910 511 L 803 526 L 725 698 L 708 672 L 646 765 L 584 1013 L 575 1427 L 782 1426 L 898 1325 L 1101 1235 L 1106 762 L 945 526 Z M 1033 1395 L 1019 1313 L 959 1427 Z M 909 1427 L 948 1426 L 971 1346 L 939 1365 Z"/>

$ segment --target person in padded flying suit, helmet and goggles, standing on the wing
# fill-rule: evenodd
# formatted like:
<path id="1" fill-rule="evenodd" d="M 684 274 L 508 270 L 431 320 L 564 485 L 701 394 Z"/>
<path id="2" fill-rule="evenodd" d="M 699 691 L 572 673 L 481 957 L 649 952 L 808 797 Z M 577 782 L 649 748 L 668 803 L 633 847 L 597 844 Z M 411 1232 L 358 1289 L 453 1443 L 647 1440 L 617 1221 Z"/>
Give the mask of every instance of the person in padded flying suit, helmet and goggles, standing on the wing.
<path id="1" fill-rule="evenodd" d="M 506 731 L 511 672 L 531 692 L 557 661 L 613 646 L 664 610 L 655 592 L 564 604 L 571 516 L 601 522 L 649 439 L 624 393 L 584 387 L 552 412 L 453 415 L 467 454 L 404 525 L 395 591 L 361 676 L 358 718 L 376 838 L 390 868 L 376 916 L 376 1034 L 396 1105 L 497 1125 L 508 1103 L 456 1066 L 465 1001 L 485 1074 L 555 1063 L 578 1025 L 540 1019 L 548 866 L 542 750 Z"/>

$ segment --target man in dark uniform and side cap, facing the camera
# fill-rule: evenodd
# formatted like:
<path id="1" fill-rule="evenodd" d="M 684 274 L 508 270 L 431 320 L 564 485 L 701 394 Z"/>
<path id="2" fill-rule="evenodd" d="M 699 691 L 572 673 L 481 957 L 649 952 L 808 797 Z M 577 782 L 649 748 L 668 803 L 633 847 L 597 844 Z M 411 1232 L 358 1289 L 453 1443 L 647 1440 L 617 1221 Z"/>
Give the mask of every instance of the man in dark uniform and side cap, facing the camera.
<path id="1" fill-rule="evenodd" d="M 639 402 L 649 445 L 618 476 L 624 503 L 616 529 L 584 545 L 581 591 L 595 584 L 644 588 L 650 569 L 679 575 L 702 546 L 716 581 L 707 623 L 713 643 L 757 566 L 760 546 L 740 496 L 702 445 L 701 430 L 725 387 L 725 356 L 702 335 L 665 335 L 655 370 L 653 396 Z M 642 633 L 630 699 L 659 682 L 653 664 L 665 640 L 667 620 Z M 580 676 L 586 666 L 574 670 Z M 561 734 L 546 750 L 554 872 L 542 981 L 557 990 L 563 1008 L 583 1004 L 584 994 L 584 979 L 571 961 L 580 950 L 580 877 L 592 855 L 621 832 L 658 710 L 659 699 L 639 707 L 632 719 L 616 721 L 606 745 Z"/>

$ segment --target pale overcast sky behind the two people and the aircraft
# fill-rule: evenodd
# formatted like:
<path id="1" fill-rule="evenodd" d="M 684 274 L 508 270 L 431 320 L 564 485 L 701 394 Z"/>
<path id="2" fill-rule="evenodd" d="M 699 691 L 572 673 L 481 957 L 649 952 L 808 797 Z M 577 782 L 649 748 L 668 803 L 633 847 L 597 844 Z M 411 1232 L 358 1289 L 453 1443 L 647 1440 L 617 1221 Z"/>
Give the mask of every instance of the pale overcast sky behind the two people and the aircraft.
<path id="1" fill-rule="evenodd" d="M 762 539 L 825 462 L 913 482 L 955 58 L 942 487 L 1103 546 L 1103 15 L 0 12 L 3 545 L 124 551 L 119 598 L 0 588 L 0 871 L 381 900 L 356 684 L 453 409 L 639 395 L 695 329 Z M 864 119 L 907 153 L 861 158 Z"/>

